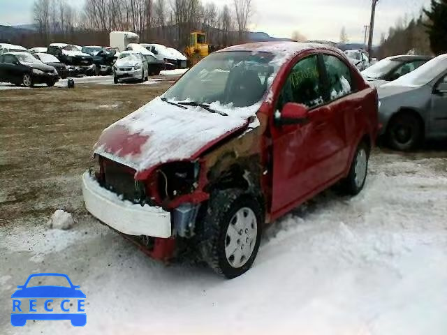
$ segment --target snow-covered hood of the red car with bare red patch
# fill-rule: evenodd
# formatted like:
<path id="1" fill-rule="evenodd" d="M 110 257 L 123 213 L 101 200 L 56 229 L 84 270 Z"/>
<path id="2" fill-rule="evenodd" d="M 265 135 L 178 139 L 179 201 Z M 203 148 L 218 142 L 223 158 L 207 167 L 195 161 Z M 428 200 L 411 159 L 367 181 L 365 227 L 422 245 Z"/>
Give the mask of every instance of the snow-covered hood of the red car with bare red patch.
<path id="1" fill-rule="evenodd" d="M 256 119 L 260 106 L 261 102 L 243 108 L 212 103 L 214 110 L 228 114 L 223 116 L 201 107 L 183 109 L 158 97 L 106 128 L 94 152 L 137 172 L 169 161 L 191 159 L 207 144 L 248 126 L 249 118 Z M 258 126 L 255 121 L 252 124 L 253 128 Z"/>

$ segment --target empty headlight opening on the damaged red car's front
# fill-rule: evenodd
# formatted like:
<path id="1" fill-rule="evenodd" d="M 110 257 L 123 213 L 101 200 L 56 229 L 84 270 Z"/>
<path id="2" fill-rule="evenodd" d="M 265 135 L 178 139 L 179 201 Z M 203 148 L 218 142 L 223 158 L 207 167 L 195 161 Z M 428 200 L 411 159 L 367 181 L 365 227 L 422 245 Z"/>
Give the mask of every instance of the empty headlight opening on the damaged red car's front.
<path id="1" fill-rule="evenodd" d="M 157 189 L 163 202 L 196 191 L 198 187 L 198 162 L 166 163 L 156 171 Z"/>

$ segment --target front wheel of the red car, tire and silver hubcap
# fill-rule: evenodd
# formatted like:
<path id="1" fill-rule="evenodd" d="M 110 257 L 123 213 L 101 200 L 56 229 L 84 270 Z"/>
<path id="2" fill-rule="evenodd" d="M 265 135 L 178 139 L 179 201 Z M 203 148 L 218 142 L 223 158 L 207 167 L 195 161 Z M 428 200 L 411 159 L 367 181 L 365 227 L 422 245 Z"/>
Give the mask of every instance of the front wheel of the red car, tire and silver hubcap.
<path id="1" fill-rule="evenodd" d="M 228 279 L 244 274 L 258 253 L 263 223 L 263 211 L 254 196 L 237 188 L 212 194 L 199 228 L 203 259 Z"/>

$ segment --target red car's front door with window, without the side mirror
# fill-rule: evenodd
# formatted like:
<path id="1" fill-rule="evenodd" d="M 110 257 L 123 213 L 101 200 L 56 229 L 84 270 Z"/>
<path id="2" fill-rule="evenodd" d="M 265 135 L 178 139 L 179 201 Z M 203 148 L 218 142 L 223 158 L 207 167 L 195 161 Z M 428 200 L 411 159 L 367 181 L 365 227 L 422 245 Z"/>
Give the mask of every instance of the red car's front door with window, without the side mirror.
<path id="1" fill-rule="evenodd" d="M 324 184 L 325 171 L 318 163 L 315 147 L 323 140 L 325 118 L 330 112 L 324 105 L 321 65 L 317 54 L 300 59 L 281 89 L 275 117 L 286 103 L 309 108 L 305 124 L 272 126 L 273 186 L 272 212 L 281 215 L 305 200 Z M 324 155 L 323 155 L 324 156 Z"/>

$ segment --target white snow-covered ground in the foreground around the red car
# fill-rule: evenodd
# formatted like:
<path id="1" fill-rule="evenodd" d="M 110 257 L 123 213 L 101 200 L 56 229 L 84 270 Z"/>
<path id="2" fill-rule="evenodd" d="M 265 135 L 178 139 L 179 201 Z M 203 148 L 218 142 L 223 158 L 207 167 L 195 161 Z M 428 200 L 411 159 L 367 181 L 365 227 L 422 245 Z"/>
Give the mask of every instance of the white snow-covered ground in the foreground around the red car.
<path id="1" fill-rule="evenodd" d="M 356 198 L 328 191 L 265 231 L 254 267 L 226 281 L 147 258 L 93 218 L 71 230 L 0 229 L 1 334 L 447 334 L 446 158 L 377 151 Z M 31 273 L 68 274 L 87 325 L 9 324 Z"/>

